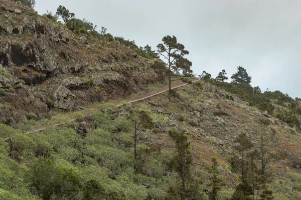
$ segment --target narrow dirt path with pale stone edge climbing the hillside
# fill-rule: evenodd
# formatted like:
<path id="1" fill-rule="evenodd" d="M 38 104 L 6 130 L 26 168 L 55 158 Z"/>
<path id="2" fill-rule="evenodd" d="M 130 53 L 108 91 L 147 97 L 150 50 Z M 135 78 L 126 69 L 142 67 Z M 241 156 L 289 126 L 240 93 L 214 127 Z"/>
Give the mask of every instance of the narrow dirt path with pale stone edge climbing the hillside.
<path id="1" fill-rule="evenodd" d="M 196 82 L 196 81 L 200 80 L 196 77 L 191 77 L 191 78 L 195 79 L 192 82 Z M 172 81 L 172 89 L 175 89 L 177 87 L 181 87 L 181 86 L 184 86 L 184 85 L 188 84 L 188 83 L 185 83 L 184 81 L 182 81 L 178 78 L 173 78 L 173 79 L 174 80 Z M 121 103 L 121 102 L 132 103 L 132 102 L 135 102 L 135 101 L 143 100 L 145 98 L 149 98 L 149 97 L 161 94 L 161 93 L 166 92 L 166 91 L 168 91 L 168 84 L 165 84 L 165 85 L 162 85 L 162 86 L 159 86 L 159 87 L 154 87 L 152 89 L 148 89 L 146 91 L 143 91 L 141 94 L 133 94 L 133 95 L 129 96 L 128 98 L 120 98 L 120 99 L 115 99 L 115 100 L 109 100 L 108 102 L 113 103 L 113 104 L 115 104 L 116 106 L 119 107 L 119 106 L 123 105 L 123 103 Z M 92 114 L 93 113 L 90 113 L 90 114 L 87 114 L 85 116 L 90 116 Z M 77 120 L 77 118 L 74 118 L 72 120 L 75 121 L 75 120 Z M 61 123 L 54 124 L 53 126 L 59 126 L 59 125 L 61 125 Z M 29 132 L 26 132 L 25 134 L 30 134 L 32 132 L 42 131 L 46 128 L 48 128 L 48 127 L 39 128 L 39 129 L 36 129 L 36 130 L 33 130 L 33 131 L 29 131 Z M 10 137 L 5 138 L 6 141 L 9 141 L 9 139 L 10 139 Z"/>

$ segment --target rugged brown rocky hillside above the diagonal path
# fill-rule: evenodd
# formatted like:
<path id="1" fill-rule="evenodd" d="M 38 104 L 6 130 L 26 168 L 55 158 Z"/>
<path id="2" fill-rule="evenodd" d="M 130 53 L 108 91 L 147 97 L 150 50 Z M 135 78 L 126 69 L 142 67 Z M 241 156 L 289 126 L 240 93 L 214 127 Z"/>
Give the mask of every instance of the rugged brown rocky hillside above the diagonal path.
<path id="1" fill-rule="evenodd" d="M 163 79 L 153 62 L 118 41 L 103 44 L 20 2 L 0 1 L 0 118 L 9 124 L 138 92 Z"/>

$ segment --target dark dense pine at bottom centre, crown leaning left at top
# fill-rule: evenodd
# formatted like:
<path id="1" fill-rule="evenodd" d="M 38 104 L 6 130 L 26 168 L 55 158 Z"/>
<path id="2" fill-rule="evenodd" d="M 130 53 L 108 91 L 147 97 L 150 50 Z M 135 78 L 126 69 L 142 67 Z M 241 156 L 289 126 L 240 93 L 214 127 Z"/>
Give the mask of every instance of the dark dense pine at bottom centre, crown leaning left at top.
<path id="1" fill-rule="evenodd" d="M 186 189 L 185 182 L 191 179 L 190 164 L 192 161 L 192 156 L 189 150 L 190 142 L 188 141 L 187 135 L 182 131 L 178 132 L 176 129 L 170 129 L 169 135 L 176 142 L 177 154 L 174 157 L 174 162 L 176 165 L 176 170 L 182 179 L 181 198 L 183 199 Z"/>

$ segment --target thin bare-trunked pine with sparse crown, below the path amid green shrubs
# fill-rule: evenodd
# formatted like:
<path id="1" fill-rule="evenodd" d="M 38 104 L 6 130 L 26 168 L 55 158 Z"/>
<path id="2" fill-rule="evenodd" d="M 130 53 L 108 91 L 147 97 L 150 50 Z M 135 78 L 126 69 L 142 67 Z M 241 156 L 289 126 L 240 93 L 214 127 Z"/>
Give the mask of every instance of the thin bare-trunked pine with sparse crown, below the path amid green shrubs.
<path id="1" fill-rule="evenodd" d="M 144 110 L 132 109 L 129 110 L 127 118 L 132 121 L 134 126 L 133 139 L 134 139 L 134 170 L 137 173 L 137 141 L 138 136 L 143 132 L 144 128 L 152 128 L 154 126 L 152 118 Z"/>

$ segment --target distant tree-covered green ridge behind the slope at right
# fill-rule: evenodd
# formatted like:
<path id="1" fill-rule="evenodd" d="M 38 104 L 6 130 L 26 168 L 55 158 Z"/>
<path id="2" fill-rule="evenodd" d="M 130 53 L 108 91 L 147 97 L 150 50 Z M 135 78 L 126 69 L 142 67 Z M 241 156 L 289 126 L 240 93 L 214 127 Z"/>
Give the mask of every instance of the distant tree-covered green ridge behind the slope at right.
<path id="1" fill-rule="evenodd" d="M 220 72 L 215 79 L 213 79 L 211 74 L 206 71 L 203 71 L 199 77 L 232 94 L 236 94 L 240 99 L 248 102 L 250 106 L 254 106 L 262 111 L 266 110 L 270 115 L 279 118 L 290 126 L 295 126 L 297 129 L 301 128 L 301 122 L 296 116 L 296 114 L 301 114 L 301 106 L 298 106 L 298 98 L 294 100 L 288 94 L 284 94 L 279 90 L 269 91 L 267 89 L 266 91 L 261 92 L 261 89 L 258 86 L 252 87 L 249 84 L 251 82 L 251 76 L 248 75 L 245 68 L 238 66 L 237 69 L 238 71 L 231 76 L 232 82 L 230 83 L 223 81 L 223 71 Z M 272 102 L 271 99 L 275 102 Z M 277 109 L 275 112 L 274 104 L 283 106 L 287 109 Z"/>

